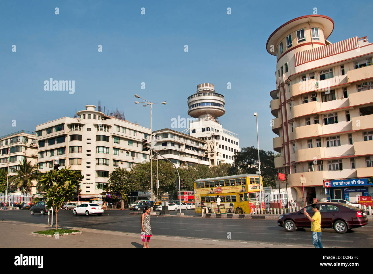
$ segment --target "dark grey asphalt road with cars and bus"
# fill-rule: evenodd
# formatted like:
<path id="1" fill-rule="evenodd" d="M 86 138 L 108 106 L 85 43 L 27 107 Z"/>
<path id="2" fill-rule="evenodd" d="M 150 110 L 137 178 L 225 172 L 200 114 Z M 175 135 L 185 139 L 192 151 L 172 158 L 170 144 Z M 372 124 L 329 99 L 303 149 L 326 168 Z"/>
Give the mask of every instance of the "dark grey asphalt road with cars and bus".
<path id="1" fill-rule="evenodd" d="M 265 219 L 210 219 L 200 218 L 194 210 L 183 210 L 186 216 L 151 216 L 151 229 L 154 235 L 174 237 L 206 238 L 214 241 L 227 240 L 253 241 L 263 244 L 285 244 L 303 246 L 311 244 L 310 229 L 286 232 L 276 220 Z M 60 210 L 59 227 L 84 227 L 98 230 L 122 231 L 140 234 L 140 216 L 129 216 L 129 210 L 105 210 L 101 216 L 73 216 L 72 210 Z M 172 214 L 176 215 L 176 212 Z M 47 215 L 30 215 L 29 210 L 0 210 L 0 219 L 46 224 Z M 1 223 L 0 223 L 1 226 Z M 1 229 L 1 227 L 0 227 Z M 373 247 L 373 225 L 355 228 L 345 234 L 333 229 L 323 229 L 324 247 Z"/>

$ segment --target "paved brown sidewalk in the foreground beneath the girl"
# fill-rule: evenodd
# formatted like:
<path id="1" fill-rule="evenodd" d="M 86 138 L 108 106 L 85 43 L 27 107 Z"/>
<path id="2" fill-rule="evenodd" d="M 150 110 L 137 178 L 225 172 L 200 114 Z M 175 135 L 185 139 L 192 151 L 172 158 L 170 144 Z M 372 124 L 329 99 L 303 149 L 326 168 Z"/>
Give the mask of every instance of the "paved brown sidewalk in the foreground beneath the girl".
<path id="1" fill-rule="evenodd" d="M 0 230 L 7 231 L 7 237 L 0 242 L 0 248 L 142 248 L 139 234 L 90 228 L 71 228 L 82 234 L 54 237 L 32 235 L 32 232 L 52 229 L 43 224 L 29 224 L 16 221 L 0 221 Z M 209 240 L 184 237 L 153 235 L 150 248 L 314 248 L 312 244 L 285 245 L 258 243 L 238 240 Z"/>

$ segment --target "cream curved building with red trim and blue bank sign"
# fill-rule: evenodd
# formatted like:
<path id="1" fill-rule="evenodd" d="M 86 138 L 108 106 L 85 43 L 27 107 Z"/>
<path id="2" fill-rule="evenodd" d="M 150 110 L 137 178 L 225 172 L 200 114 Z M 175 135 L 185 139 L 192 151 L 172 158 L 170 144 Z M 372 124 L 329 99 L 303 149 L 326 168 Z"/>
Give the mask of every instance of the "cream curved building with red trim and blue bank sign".
<path id="1" fill-rule="evenodd" d="M 277 28 L 266 45 L 277 58 L 270 92 L 278 135 L 273 149 L 281 154 L 275 168 L 289 174 L 296 200 L 303 200 L 303 175 L 308 203 L 356 201 L 373 192 L 367 182 L 373 175 L 373 43 L 366 36 L 332 43 L 326 39 L 333 28 L 327 16 L 301 16 Z"/>

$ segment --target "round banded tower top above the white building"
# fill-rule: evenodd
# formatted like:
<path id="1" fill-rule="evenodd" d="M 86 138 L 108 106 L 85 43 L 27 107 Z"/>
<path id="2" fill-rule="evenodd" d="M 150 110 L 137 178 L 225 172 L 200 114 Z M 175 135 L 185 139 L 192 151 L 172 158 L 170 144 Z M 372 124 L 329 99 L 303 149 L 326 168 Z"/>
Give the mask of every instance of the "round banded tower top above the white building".
<path id="1" fill-rule="evenodd" d="M 188 114 L 193 118 L 217 118 L 225 113 L 224 105 L 224 96 L 215 92 L 214 85 L 203 83 L 188 97 Z"/>

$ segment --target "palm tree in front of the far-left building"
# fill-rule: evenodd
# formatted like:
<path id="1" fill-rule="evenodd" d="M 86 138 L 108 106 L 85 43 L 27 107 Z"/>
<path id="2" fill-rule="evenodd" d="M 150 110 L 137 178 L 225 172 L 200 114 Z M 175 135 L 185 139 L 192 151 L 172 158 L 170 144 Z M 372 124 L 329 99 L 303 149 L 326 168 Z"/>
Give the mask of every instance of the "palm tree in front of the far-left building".
<path id="1" fill-rule="evenodd" d="M 32 187 L 31 181 L 38 179 L 38 175 L 36 173 L 37 165 L 34 164 L 32 166 L 31 161 L 28 162 L 25 157 L 23 161 L 19 161 L 18 167 L 19 167 L 19 170 L 16 169 L 17 175 L 13 176 L 11 180 L 15 180 L 14 184 L 16 185 L 16 187 L 21 187 L 22 192 L 26 190 L 26 194 L 27 194 L 31 191 L 31 187 Z"/>

